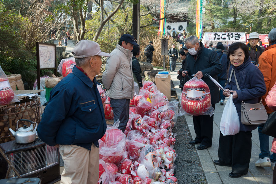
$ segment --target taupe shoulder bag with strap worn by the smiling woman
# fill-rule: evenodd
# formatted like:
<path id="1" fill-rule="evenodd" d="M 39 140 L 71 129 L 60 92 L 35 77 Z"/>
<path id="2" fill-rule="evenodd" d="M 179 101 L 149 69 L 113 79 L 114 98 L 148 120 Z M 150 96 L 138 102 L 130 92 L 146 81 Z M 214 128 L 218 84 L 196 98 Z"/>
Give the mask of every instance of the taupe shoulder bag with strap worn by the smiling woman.
<path id="1" fill-rule="evenodd" d="M 229 82 L 231 81 L 233 71 L 237 88 L 240 90 L 234 69 L 231 71 Z M 266 122 L 268 115 L 265 107 L 263 106 L 262 100 L 259 103 L 245 103 L 242 101 L 241 106 L 240 121 L 242 124 L 262 125 Z"/>

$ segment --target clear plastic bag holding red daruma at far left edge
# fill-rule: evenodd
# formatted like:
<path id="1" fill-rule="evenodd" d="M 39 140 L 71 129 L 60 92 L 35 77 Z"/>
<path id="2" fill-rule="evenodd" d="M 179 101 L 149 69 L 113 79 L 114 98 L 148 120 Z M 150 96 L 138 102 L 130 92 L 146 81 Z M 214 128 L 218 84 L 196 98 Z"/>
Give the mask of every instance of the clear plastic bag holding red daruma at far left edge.
<path id="1" fill-rule="evenodd" d="M 0 66 L 0 105 L 7 105 L 12 102 L 19 102 L 19 100 L 10 87 L 8 77 Z"/>

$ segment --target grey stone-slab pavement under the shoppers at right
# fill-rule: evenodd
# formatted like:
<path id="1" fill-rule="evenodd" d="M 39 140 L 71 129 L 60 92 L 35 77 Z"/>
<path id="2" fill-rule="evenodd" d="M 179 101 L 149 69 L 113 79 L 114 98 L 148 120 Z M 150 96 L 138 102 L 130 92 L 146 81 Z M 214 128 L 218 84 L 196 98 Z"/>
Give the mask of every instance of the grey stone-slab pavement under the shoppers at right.
<path id="1" fill-rule="evenodd" d="M 177 62 L 177 67 L 175 71 L 181 68 L 180 62 Z M 176 79 L 177 72 L 170 72 L 171 80 L 174 83 L 174 88 L 176 89 L 178 99 L 181 101 L 181 89 L 179 88 L 179 80 Z M 225 102 L 228 98 L 225 99 Z M 224 105 L 216 104 L 214 123 L 213 123 L 213 141 L 212 147 L 205 150 L 195 150 L 197 151 L 198 157 L 200 159 L 205 178 L 208 184 L 271 184 L 273 171 L 271 167 L 255 167 L 255 162 L 259 159 L 260 153 L 260 143 L 258 130 L 252 131 L 252 152 L 251 160 L 249 164 L 249 171 L 247 175 L 240 178 L 230 178 L 228 174 L 232 172 L 231 167 L 217 166 L 213 164 L 213 160 L 218 160 L 218 144 L 220 135 L 220 119 L 224 109 Z M 185 116 L 186 122 L 189 126 L 191 136 L 193 139 L 196 137 L 194 132 L 193 117 Z M 270 145 L 272 144 L 272 137 L 270 137 Z M 197 144 L 199 145 L 199 144 Z M 196 145 L 196 146 L 197 146 Z M 241 150 L 242 151 L 242 150 Z"/>

